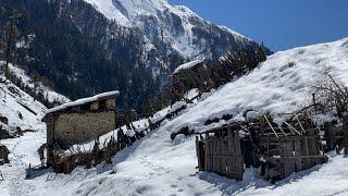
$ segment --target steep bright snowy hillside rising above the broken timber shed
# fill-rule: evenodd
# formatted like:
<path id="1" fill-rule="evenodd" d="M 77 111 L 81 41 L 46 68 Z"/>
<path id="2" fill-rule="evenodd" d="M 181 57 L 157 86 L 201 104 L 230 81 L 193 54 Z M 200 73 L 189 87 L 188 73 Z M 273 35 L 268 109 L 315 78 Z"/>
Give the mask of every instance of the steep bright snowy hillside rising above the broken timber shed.
<path id="1" fill-rule="evenodd" d="M 348 85 L 348 38 L 277 52 L 250 74 L 221 87 L 207 99 L 171 122 L 166 130 L 184 126 L 202 131 L 209 119 L 248 109 L 263 112 L 293 112 L 311 101 L 311 85 L 324 71 Z"/>

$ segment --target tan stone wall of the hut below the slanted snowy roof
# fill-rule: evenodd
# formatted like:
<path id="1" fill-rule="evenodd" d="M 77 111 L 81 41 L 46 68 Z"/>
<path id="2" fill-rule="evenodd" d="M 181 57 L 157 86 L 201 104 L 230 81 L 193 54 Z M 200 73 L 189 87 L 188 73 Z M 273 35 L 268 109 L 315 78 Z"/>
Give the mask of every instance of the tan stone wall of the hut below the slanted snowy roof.
<path id="1" fill-rule="evenodd" d="M 114 128 L 113 111 L 60 114 L 54 122 L 54 137 L 60 142 L 76 144 L 94 139 Z"/>

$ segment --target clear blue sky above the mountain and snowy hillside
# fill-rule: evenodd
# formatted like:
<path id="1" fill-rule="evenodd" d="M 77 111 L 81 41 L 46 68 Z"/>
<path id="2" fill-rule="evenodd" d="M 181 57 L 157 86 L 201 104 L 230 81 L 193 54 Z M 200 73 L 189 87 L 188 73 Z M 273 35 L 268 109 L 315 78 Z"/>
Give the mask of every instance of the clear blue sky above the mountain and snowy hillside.
<path id="1" fill-rule="evenodd" d="M 348 37 L 348 0 L 169 0 L 273 51 Z"/>

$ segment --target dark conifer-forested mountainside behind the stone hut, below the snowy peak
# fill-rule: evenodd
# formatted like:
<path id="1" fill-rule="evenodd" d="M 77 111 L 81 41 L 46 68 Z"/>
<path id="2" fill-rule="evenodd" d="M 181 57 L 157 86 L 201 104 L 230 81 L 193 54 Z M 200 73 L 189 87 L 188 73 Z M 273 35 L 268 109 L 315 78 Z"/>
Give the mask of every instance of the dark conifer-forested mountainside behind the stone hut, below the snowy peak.
<path id="1" fill-rule="evenodd" d="M 86 19 L 103 17 L 89 4 L 82 3 L 90 11 Z M 128 66 L 135 64 L 133 59 L 138 59 L 137 39 L 122 39 L 123 42 L 115 45 L 121 47 L 117 58 L 110 57 L 100 44 L 75 25 L 76 19 L 72 17 L 67 5 L 65 0 L 0 1 L 5 14 L 18 10 L 25 15 L 17 24 L 21 35 L 12 58 L 15 64 L 73 100 L 119 89 L 122 91 L 119 106 L 133 108 L 154 96 L 159 85 L 151 71 L 140 65 Z M 5 21 L 0 21 L 1 26 L 3 23 Z M 88 28 L 88 32 L 94 29 Z"/>

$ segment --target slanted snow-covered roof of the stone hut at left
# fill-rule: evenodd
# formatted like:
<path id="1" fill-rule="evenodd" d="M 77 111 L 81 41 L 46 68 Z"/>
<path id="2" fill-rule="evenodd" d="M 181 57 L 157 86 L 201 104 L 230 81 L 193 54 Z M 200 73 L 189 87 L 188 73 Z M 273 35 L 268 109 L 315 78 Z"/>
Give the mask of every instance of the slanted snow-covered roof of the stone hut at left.
<path id="1" fill-rule="evenodd" d="M 49 109 L 46 114 L 53 113 L 53 112 L 57 112 L 57 111 L 60 111 L 60 110 L 64 110 L 64 109 L 66 109 L 69 107 L 74 107 L 74 106 L 85 105 L 87 102 L 92 102 L 92 101 L 96 101 L 96 100 L 99 100 L 99 99 L 102 99 L 102 98 L 105 98 L 105 97 L 116 96 L 119 94 L 120 94 L 119 90 L 113 90 L 113 91 L 107 91 L 107 93 L 103 93 L 103 94 L 99 94 L 99 95 L 96 95 L 96 96 L 92 96 L 92 97 L 77 99 L 77 100 L 75 100 L 73 102 L 67 102 L 65 105 Z"/>

